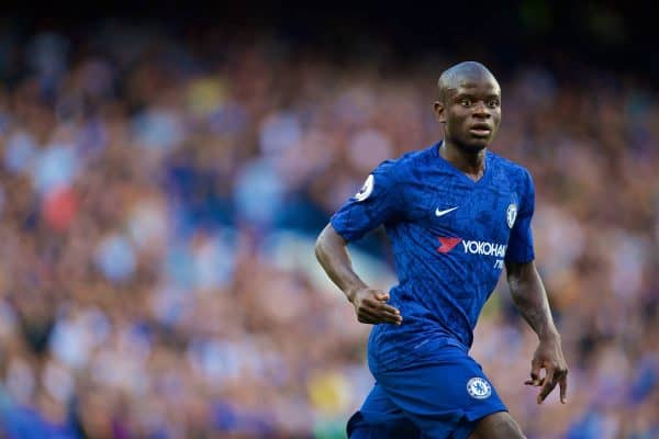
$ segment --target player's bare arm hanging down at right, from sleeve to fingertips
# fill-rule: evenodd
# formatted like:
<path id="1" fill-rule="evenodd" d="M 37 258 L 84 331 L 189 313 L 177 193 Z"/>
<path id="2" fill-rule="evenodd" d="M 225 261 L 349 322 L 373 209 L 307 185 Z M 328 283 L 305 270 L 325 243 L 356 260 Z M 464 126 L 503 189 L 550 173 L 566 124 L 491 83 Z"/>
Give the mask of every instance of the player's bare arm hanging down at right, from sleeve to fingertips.
<path id="1" fill-rule="evenodd" d="M 532 361 L 530 380 L 525 384 L 543 386 L 538 395 L 538 404 L 545 401 L 558 384 L 560 402 L 565 404 L 568 390 L 568 365 L 560 347 L 560 335 L 554 325 L 547 293 L 535 262 L 506 261 L 505 267 L 515 306 L 539 338 L 539 345 Z M 544 378 L 540 378 L 541 369 L 546 371 Z"/>

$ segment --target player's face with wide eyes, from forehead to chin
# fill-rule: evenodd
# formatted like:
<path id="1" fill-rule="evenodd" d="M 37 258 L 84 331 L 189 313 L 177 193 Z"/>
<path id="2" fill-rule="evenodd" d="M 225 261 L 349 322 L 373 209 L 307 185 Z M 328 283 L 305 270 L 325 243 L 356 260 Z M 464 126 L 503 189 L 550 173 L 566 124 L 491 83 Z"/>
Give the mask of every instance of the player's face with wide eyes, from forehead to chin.
<path id="1" fill-rule="evenodd" d="M 437 120 L 447 142 L 469 151 L 487 147 L 501 123 L 501 89 L 491 77 L 463 78 L 435 102 Z"/>

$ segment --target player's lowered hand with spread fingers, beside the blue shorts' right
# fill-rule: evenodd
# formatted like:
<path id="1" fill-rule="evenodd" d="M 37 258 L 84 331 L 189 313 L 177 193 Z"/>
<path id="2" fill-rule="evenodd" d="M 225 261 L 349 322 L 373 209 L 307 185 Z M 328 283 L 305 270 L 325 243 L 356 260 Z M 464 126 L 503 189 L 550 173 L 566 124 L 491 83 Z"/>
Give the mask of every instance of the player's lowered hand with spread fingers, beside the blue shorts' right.
<path id="1" fill-rule="evenodd" d="M 544 378 L 540 378 L 541 369 L 545 369 Z M 524 384 L 543 387 L 538 394 L 538 404 L 541 404 L 558 384 L 560 402 L 567 403 L 568 364 L 563 358 L 559 339 L 540 340 L 530 362 L 530 380 L 526 380 Z"/>

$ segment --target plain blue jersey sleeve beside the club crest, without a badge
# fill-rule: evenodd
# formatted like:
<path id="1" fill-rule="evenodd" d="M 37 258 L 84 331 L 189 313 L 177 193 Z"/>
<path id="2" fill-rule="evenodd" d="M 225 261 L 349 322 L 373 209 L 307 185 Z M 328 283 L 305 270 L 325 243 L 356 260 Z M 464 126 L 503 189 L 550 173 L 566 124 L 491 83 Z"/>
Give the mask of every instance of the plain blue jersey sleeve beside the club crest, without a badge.
<path id="1" fill-rule="evenodd" d="M 521 189 L 520 212 L 511 229 L 505 255 L 506 261 L 517 263 L 529 262 L 535 258 L 533 232 L 530 229 L 530 219 L 535 210 L 535 188 L 527 170 L 524 170 L 524 181 Z"/>

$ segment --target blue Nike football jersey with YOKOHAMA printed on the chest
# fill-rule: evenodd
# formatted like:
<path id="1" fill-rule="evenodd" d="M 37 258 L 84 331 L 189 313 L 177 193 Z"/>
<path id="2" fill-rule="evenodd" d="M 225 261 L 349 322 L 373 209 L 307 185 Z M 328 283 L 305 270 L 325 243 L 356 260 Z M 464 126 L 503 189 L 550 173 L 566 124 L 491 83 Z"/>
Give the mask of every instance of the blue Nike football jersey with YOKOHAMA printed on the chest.
<path id="1" fill-rule="evenodd" d="M 373 326 L 370 345 L 384 362 L 412 358 L 429 340 L 469 350 L 504 260 L 534 259 L 528 171 L 487 151 L 474 182 L 442 158 L 439 146 L 380 164 L 331 219 L 347 241 L 380 225 L 391 240 L 399 284 L 390 303 L 403 324 Z"/>

